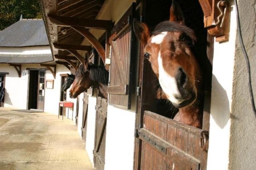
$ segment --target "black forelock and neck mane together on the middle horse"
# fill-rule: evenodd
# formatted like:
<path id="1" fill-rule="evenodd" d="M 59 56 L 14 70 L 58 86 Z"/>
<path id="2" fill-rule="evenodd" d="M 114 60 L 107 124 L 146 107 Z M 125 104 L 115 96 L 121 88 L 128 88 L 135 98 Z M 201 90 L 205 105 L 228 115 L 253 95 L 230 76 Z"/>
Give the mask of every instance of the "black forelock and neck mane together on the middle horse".
<path id="1" fill-rule="evenodd" d="M 105 69 L 104 66 L 98 65 L 88 65 L 88 68 L 84 68 L 84 65 L 80 65 L 76 71 L 76 77 L 81 78 L 84 76 L 84 73 L 88 71 L 90 73 L 90 79 L 96 82 L 103 84 L 108 84 L 109 72 Z"/>

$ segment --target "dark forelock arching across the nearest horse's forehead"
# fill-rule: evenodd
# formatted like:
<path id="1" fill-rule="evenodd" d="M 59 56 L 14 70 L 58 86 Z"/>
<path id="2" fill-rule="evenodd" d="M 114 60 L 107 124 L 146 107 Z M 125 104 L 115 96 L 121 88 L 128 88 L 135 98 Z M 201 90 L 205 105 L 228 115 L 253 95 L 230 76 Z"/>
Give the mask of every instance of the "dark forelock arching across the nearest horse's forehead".
<path id="1" fill-rule="evenodd" d="M 185 35 L 187 35 L 188 37 L 190 37 L 191 40 L 193 40 L 193 42 L 196 41 L 196 36 L 194 31 L 191 28 L 187 27 L 186 25 L 179 24 L 177 22 L 170 22 L 170 21 L 160 22 L 158 25 L 156 25 L 152 34 L 156 35 L 165 31 L 182 32 L 182 33 L 185 33 Z"/>

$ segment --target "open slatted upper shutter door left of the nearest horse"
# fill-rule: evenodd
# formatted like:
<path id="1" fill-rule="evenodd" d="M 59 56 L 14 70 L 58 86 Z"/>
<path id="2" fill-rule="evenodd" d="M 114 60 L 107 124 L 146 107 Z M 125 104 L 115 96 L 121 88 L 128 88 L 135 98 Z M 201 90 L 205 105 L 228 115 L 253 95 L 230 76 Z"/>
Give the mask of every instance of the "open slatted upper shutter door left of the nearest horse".
<path id="1" fill-rule="evenodd" d="M 116 107 L 131 109 L 133 86 L 133 67 L 136 39 L 132 31 L 135 3 L 125 12 L 113 27 L 110 37 L 111 64 L 110 86 L 107 89 L 109 103 Z"/>

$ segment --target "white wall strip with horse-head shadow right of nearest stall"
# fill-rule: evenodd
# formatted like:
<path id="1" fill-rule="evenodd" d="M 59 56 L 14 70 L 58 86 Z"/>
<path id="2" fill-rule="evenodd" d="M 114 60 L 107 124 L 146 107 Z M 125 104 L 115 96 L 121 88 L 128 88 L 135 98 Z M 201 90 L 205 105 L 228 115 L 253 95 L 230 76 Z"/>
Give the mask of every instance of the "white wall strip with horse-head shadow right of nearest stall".
<path id="1" fill-rule="evenodd" d="M 230 37 L 214 42 L 207 169 L 228 169 L 230 113 L 234 71 L 236 13 L 231 12 Z"/>

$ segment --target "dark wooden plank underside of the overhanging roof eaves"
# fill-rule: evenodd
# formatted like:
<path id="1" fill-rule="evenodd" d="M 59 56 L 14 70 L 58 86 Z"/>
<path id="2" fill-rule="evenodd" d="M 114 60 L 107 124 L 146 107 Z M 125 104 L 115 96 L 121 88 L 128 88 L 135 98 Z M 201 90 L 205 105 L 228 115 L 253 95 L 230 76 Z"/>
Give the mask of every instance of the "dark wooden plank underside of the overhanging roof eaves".
<path id="1" fill-rule="evenodd" d="M 104 0 L 39 0 L 40 1 L 40 6 L 41 10 L 43 11 L 43 18 L 45 20 L 45 25 L 47 25 L 46 29 L 48 31 L 48 36 L 50 37 L 50 42 L 51 42 L 51 48 L 53 49 L 53 55 L 55 55 L 55 59 L 59 60 L 59 64 L 61 62 L 65 62 L 65 65 L 67 63 L 69 65 L 75 66 L 75 64 L 72 62 L 70 63 L 70 59 L 77 59 L 75 57 L 78 56 L 79 60 L 81 61 L 82 58 L 80 58 L 80 54 L 78 55 L 77 52 L 73 52 L 73 56 L 70 56 L 70 52 L 67 50 L 84 50 L 84 48 L 80 48 L 80 44 L 84 40 L 84 36 L 81 35 L 79 32 L 75 31 L 74 29 L 67 26 L 60 26 L 56 23 L 53 23 L 50 21 L 49 16 L 55 16 L 56 17 L 61 17 L 62 19 L 67 19 L 63 17 L 75 17 L 77 18 L 78 22 L 81 22 L 82 19 L 85 19 L 83 21 L 93 21 L 92 19 L 95 19 L 97 16 L 98 12 L 100 11 Z M 60 18 L 58 18 L 60 19 Z M 65 21 L 64 20 L 64 21 Z M 74 23 L 73 18 L 71 18 L 70 22 Z M 97 22 L 97 21 L 96 21 Z M 105 25 L 110 25 L 110 23 L 105 23 L 103 22 L 98 22 L 96 23 L 95 28 L 100 28 L 104 29 L 106 26 Z M 82 22 L 83 23 L 83 22 Z M 70 24 L 70 23 L 69 23 Z M 65 25 L 65 24 L 64 24 Z M 71 24 L 72 25 L 72 24 Z M 83 25 L 86 26 L 86 25 Z M 89 25 L 91 28 L 92 25 Z M 65 30 L 64 30 L 65 29 Z M 64 31 L 63 31 L 64 30 Z M 61 33 L 61 31 L 64 32 Z M 68 49 L 63 48 L 55 48 L 57 46 L 53 46 L 53 43 L 61 44 L 61 45 L 67 45 L 69 46 Z M 66 46 L 66 47 L 67 47 Z M 75 49 L 70 49 L 70 48 Z M 86 47 L 86 50 L 89 50 Z M 75 53 L 75 55 L 74 55 Z M 69 58 L 67 58 L 69 57 Z M 70 61 L 70 62 L 67 62 Z M 62 63 L 62 64 L 63 64 Z M 63 64 L 64 65 L 64 64 Z M 76 66 L 75 66 L 76 67 Z"/>

